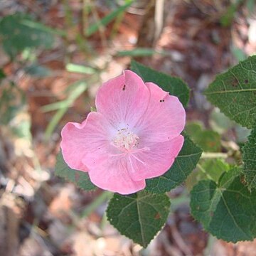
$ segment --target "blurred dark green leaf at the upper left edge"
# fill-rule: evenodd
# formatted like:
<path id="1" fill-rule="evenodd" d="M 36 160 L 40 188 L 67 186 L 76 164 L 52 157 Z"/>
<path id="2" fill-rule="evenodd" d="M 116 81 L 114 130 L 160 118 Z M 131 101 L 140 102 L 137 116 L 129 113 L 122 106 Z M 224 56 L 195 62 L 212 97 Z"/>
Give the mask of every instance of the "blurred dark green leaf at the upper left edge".
<path id="1" fill-rule="evenodd" d="M 45 28 L 24 14 L 5 16 L 0 21 L 2 46 L 12 59 L 25 48 L 50 48 L 53 35 Z"/>

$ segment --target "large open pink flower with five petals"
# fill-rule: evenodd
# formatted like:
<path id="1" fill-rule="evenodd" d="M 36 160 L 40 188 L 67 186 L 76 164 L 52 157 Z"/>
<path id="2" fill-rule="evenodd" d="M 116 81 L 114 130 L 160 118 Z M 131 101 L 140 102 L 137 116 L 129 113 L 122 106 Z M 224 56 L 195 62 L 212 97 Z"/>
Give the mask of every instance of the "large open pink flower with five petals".
<path id="1" fill-rule="evenodd" d="M 131 70 L 105 82 L 97 112 L 61 132 L 63 158 L 96 186 L 121 194 L 142 190 L 164 174 L 183 145 L 185 110 L 178 98 Z"/>

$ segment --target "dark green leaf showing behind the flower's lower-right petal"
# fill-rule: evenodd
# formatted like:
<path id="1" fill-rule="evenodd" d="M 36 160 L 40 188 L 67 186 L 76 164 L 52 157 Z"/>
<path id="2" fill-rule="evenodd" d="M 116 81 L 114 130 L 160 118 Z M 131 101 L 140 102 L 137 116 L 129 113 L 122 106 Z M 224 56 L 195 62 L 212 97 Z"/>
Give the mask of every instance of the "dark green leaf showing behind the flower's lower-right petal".
<path id="1" fill-rule="evenodd" d="M 152 193 L 165 193 L 180 185 L 196 168 L 201 154 L 202 150 L 185 136 L 183 147 L 169 171 L 162 176 L 146 180 L 146 190 Z"/>

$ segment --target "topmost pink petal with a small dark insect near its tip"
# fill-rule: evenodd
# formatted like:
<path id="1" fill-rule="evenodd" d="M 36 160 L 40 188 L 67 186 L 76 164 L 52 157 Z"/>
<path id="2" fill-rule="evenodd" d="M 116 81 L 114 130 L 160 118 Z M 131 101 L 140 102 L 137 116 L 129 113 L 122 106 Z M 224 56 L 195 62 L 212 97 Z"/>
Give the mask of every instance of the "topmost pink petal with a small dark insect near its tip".
<path id="1" fill-rule="evenodd" d="M 142 78 L 130 70 L 105 82 L 96 95 L 97 111 L 117 129 L 136 124 L 148 104 L 149 89 Z"/>

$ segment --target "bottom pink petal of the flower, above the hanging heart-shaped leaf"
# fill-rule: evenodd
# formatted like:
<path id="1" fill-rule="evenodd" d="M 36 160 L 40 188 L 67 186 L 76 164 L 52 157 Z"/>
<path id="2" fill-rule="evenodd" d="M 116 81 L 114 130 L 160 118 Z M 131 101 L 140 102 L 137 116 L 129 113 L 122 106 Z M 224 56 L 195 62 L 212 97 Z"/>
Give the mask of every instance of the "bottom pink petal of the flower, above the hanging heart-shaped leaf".
<path id="1" fill-rule="evenodd" d="M 126 159 L 109 159 L 102 157 L 101 161 L 90 166 L 90 180 L 96 186 L 120 194 L 135 193 L 145 188 L 146 182 L 133 181 L 127 170 Z"/>

